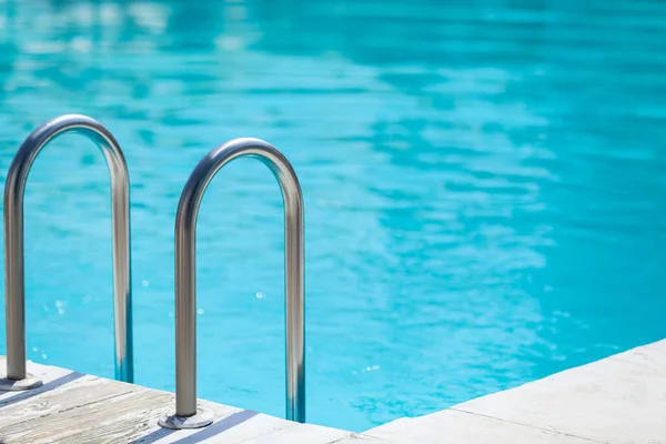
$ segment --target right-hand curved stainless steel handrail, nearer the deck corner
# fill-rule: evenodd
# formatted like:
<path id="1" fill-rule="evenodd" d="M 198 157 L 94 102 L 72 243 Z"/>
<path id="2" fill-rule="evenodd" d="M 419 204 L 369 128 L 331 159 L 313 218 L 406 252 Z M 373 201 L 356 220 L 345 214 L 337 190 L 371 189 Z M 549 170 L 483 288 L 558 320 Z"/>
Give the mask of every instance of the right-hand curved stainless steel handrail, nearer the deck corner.
<path id="1" fill-rule="evenodd" d="M 196 408 L 196 215 L 215 173 L 230 161 L 252 157 L 262 161 L 280 183 L 284 203 L 286 418 L 305 422 L 305 355 L 303 296 L 303 195 L 289 160 L 259 139 L 234 139 L 209 152 L 185 183 L 175 216 L 175 414 L 160 425 L 196 428 L 212 415 Z"/>

